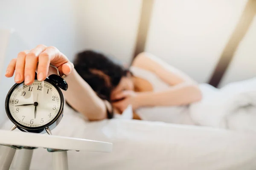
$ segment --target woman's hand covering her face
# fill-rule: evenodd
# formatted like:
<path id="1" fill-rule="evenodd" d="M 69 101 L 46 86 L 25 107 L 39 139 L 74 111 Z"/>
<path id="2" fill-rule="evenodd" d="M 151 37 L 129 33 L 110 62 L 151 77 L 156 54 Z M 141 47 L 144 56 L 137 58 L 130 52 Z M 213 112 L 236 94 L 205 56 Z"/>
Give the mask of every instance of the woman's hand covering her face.
<path id="1" fill-rule="evenodd" d="M 116 96 L 115 100 L 118 100 L 118 102 L 113 102 L 113 106 L 121 113 L 125 111 L 128 105 L 132 105 L 133 110 L 136 110 L 139 108 L 137 95 L 138 94 L 134 91 L 122 91 L 119 95 Z"/>

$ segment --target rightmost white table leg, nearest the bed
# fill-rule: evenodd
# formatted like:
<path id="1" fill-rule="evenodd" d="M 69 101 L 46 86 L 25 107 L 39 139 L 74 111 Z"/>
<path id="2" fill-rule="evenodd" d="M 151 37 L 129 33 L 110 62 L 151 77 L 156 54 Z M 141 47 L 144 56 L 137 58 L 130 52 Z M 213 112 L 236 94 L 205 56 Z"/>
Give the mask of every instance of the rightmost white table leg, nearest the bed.
<path id="1" fill-rule="evenodd" d="M 52 152 L 53 170 L 68 170 L 67 151 Z"/>

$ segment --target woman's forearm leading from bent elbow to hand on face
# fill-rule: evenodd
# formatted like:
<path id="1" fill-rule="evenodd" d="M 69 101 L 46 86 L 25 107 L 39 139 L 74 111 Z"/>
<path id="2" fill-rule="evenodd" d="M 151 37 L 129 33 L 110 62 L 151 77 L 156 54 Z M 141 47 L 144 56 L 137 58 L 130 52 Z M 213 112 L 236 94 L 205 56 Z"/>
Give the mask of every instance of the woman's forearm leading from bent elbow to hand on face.
<path id="1" fill-rule="evenodd" d="M 201 100 L 201 91 L 194 83 L 181 83 L 161 92 L 142 92 L 136 97 L 139 107 L 188 105 Z"/>

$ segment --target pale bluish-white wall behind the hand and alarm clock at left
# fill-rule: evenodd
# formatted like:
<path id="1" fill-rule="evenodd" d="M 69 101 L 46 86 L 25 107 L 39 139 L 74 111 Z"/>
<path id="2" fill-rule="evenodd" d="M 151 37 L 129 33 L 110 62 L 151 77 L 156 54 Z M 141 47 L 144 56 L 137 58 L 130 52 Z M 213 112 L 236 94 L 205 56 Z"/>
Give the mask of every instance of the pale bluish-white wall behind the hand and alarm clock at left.
<path id="1" fill-rule="evenodd" d="M 5 116 L 6 94 L 14 84 L 12 78 L 4 77 L 5 70 L 19 51 L 34 48 L 38 44 L 54 45 L 68 57 L 77 51 L 74 3 L 73 0 L 0 1 L 0 28 L 15 29 L 9 37 L 0 79 L 0 122 Z M 3 40 L 3 37 L 0 39 Z"/>

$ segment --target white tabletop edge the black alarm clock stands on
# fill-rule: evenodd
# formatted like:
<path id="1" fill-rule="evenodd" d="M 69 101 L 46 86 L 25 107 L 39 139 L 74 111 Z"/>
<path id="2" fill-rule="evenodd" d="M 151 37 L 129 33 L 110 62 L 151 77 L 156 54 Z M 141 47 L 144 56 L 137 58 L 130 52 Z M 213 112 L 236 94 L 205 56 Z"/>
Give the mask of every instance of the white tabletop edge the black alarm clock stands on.
<path id="1" fill-rule="evenodd" d="M 112 151 L 112 143 L 108 142 L 7 130 L 0 130 L 0 144 L 45 147 L 59 150 Z"/>

